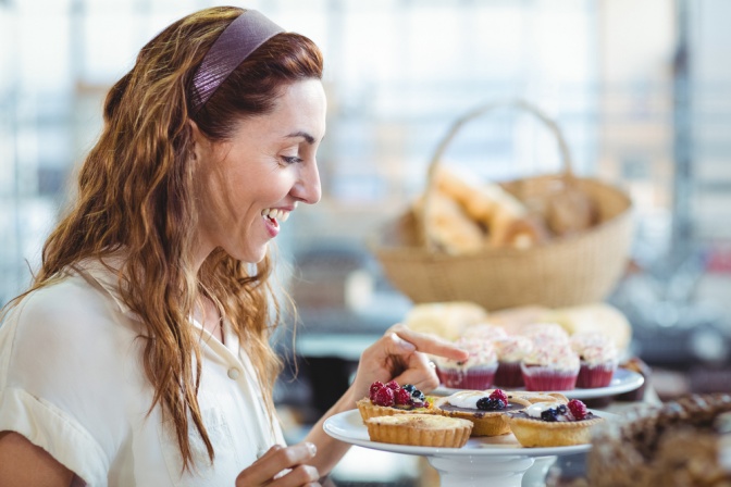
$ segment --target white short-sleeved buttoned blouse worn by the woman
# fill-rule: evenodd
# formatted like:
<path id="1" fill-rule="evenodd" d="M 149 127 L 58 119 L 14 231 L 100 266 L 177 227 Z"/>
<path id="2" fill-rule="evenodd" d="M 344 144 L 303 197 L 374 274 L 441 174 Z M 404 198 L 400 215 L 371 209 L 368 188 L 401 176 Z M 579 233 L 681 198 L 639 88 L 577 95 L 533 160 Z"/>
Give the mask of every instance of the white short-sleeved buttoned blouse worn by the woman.
<path id="1" fill-rule="evenodd" d="M 25 297 L 0 326 L 0 432 L 17 432 L 50 452 L 79 485 L 233 486 L 284 438 L 230 326 L 224 346 L 195 325 L 203 361 L 198 401 L 213 464 L 191 426 L 195 467 L 183 472 L 173 425 L 160 405 L 148 415 L 153 390 L 141 364 L 140 324 L 98 261 Z"/>

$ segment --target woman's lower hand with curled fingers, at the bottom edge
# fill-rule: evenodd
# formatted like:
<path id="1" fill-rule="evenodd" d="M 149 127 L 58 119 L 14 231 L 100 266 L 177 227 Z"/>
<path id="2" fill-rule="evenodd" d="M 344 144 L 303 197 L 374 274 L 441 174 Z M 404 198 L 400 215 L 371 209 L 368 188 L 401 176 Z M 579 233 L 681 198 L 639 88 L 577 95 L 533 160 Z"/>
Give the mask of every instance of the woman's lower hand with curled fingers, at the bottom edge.
<path id="1" fill-rule="evenodd" d="M 236 477 L 236 487 L 319 487 L 320 473 L 311 463 L 317 448 L 311 442 L 292 447 L 275 445 Z"/>

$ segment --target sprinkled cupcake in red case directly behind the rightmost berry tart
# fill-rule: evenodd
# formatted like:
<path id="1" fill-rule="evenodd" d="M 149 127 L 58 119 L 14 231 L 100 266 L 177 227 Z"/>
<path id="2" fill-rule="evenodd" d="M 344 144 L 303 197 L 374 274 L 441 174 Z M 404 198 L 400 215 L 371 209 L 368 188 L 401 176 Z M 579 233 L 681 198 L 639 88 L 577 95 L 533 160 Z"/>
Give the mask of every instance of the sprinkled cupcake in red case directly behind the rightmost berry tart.
<path id="1" fill-rule="evenodd" d="M 579 369 L 579 355 L 568 342 L 534 347 L 520 363 L 525 390 L 574 389 Z"/>

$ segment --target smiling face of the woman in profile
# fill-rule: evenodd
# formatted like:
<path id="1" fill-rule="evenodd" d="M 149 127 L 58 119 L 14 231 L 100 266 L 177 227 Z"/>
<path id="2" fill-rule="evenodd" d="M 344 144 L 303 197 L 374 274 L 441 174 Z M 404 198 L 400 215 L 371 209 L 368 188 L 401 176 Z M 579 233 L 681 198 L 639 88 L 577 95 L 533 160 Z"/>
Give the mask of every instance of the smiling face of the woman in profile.
<path id="1" fill-rule="evenodd" d="M 259 262 L 298 203 L 320 200 L 315 153 L 325 134 L 322 83 L 288 85 L 273 112 L 239 122 L 230 140 L 197 129 L 198 263 L 216 247 Z"/>

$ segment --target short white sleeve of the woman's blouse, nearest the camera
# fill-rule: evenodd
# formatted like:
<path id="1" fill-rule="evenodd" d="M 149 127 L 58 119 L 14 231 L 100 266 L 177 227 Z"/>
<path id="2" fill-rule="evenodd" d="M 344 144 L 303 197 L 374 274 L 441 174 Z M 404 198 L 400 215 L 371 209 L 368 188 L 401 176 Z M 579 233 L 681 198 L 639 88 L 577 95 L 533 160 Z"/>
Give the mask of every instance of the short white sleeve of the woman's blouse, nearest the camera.
<path id="1" fill-rule="evenodd" d="M 123 435 L 112 314 L 98 291 L 66 279 L 24 298 L 0 326 L 0 432 L 23 435 L 89 486 L 107 485 Z"/>

